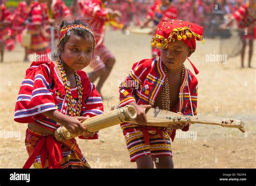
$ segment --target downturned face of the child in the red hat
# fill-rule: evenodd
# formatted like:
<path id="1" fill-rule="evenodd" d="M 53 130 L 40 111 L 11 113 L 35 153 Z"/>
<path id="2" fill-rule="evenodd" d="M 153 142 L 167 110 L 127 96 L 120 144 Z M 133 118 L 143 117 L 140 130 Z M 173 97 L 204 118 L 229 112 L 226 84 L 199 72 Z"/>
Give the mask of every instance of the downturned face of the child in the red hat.
<path id="1" fill-rule="evenodd" d="M 194 51 L 181 40 L 175 40 L 170 42 L 165 49 L 161 48 L 161 60 L 167 68 L 176 69 L 181 67 Z"/>

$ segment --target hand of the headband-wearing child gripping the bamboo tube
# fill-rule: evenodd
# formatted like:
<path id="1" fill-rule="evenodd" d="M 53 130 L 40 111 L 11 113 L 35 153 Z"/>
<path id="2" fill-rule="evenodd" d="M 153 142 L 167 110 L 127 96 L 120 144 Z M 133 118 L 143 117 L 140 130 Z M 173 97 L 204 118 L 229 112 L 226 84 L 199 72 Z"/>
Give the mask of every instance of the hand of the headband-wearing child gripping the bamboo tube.
<path id="1" fill-rule="evenodd" d="M 66 129 L 69 130 L 72 134 L 89 134 L 89 132 L 86 130 L 86 128 L 82 125 L 81 121 L 84 121 L 88 119 L 89 117 L 83 117 L 83 116 L 76 116 L 76 117 L 70 117 L 66 116 L 65 121 L 61 123 Z"/>

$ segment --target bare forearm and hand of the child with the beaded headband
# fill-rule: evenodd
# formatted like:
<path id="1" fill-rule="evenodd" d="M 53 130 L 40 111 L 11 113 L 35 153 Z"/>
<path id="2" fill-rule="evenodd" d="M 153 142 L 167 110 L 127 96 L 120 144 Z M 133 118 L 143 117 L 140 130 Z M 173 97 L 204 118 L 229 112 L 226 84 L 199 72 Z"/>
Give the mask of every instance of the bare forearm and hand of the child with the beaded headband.
<path id="1" fill-rule="evenodd" d="M 46 111 L 42 114 L 63 125 L 66 129 L 69 130 L 70 133 L 81 134 L 83 132 L 86 132 L 88 133 L 88 135 L 90 135 L 90 133 L 87 132 L 86 128 L 80 122 L 80 121 L 86 120 L 87 117 L 84 117 L 84 116 L 70 117 L 60 113 L 57 110 Z"/>

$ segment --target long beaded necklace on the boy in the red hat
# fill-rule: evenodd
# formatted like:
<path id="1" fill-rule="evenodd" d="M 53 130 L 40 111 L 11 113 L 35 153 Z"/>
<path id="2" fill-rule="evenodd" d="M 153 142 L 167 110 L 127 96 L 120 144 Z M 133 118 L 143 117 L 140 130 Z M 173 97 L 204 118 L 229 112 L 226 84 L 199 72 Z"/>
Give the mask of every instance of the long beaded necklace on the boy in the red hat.
<path id="1" fill-rule="evenodd" d="M 167 67 L 164 65 L 164 70 L 165 73 L 167 74 Z M 183 83 L 184 80 L 184 75 L 185 75 L 185 66 L 182 66 L 182 70 L 181 70 L 181 80 L 180 80 L 180 85 Z M 168 83 L 168 77 L 165 78 L 164 80 L 164 84 L 163 87 L 161 89 L 161 102 L 162 102 L 162 108 L 165 111 L 170 111 L 170 89 L 169 89 L 169 83 Z M 177 107 L 177 112 L 179 112 L 179 104 Z M 170 136 L 173 132 L 173 129 L 171 129 L 170 127 L 165 127 L 164 128 L 164 132 L 163 132 L 163 136 L 165 141 L 167 142 L 170 139 Z"/>

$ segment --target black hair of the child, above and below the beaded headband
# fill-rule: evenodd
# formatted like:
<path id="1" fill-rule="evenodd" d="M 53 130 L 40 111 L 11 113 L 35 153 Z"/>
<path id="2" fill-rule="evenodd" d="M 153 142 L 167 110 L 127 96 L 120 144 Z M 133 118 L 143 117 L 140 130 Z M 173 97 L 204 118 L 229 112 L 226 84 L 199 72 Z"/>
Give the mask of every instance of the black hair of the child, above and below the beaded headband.
<path id="1" fill-rule="evenodd" d="M 82 22 L 79 19 L 76 19 L 74 22 L 68 22 L 65 18 L 60 23 L 59 29 L 61 30 L 63 26 L 69 26 L 69 25 L 75 25 L 75 24 L 76 25 L 82 24 L 84 26 L 89 27 L 89 29 L 91 29 L 87 23 Z M 57 56 L 59 59 L 60 59 L 62 52 L 64 51 L 65 44 L 66 44 L 66 42 L 69 41 L 71 35 L 75 35 L 75 36 L 81 37 L 83 39 L 87 39 L 87 38 L 91 37 L 93 40 L 93 49 L 95 48 L 95 37 L 93 36 L 93 34 L 90 31 L 85 30 L 85 29 L 72 29 L 69 31 L 69 33 L 66 33 L 65 37 L 61 40 L 61 42 L 58 45 Z"/>

